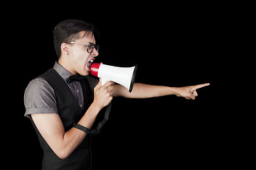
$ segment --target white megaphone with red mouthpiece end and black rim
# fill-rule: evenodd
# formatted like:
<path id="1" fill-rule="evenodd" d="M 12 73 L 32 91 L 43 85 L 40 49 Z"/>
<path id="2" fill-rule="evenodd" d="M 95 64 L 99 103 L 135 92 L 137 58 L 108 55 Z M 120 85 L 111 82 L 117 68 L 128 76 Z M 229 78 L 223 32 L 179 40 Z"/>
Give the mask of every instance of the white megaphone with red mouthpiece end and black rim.
<path id="1" fill-rule="evenodd" d="M 107 81 L 114 81 L 132 92 L 137 72 L 137 65 L 134 67 L 114 67 L 107 64 L 93 63 L 90 72 L 95 77 L 102 78 L 102 85 Z"/>

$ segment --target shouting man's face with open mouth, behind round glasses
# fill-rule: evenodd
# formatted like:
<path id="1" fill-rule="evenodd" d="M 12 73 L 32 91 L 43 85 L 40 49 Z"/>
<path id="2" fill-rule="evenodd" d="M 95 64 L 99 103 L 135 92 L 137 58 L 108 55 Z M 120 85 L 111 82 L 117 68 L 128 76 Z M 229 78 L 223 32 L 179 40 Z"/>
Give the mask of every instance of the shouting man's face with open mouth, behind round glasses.
<path id="1" fill-rule="evenodd" d="M 85 35 L 85 31 L 81 31 L 80 35 Z M 96 44 L 95 37 L 92 33 L 87 33 L 83 38 L 75 40 L 74 42 L 78 43 L 88 43 L 92 42 Z M 97 50 L 93 50 L 92 53 L 87 52 L 87 45 L 81 44 L 70 44 L 68 45 L 68 61 L 72 74 L 80 74 L 83 76 L 87 76 L 90 74 L 90 66 L 95 60 L 99 53 Z"/>

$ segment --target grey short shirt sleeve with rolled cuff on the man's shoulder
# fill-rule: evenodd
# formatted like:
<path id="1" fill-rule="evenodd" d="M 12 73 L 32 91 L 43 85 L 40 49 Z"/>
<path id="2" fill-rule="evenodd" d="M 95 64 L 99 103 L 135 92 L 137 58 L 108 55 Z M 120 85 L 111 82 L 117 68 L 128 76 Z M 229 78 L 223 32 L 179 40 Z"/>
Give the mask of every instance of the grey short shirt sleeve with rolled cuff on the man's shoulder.
<path id="1" fill-rule="evenodd" d="M 24 94 L 25 116 L 31 118 L 35 113 L 57 113 L 53 88 L 43 78 L 36 78 L 29 82 Z"/>

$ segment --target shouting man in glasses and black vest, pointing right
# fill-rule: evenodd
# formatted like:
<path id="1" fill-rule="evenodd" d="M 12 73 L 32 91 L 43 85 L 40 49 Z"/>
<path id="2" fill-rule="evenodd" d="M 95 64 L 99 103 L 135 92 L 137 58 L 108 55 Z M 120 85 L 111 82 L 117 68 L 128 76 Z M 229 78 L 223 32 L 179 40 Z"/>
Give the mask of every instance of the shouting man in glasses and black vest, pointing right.
<path id="1" fill-rule="evenodd" d="M 90 23 L 66 20 L 53 30 L 58 62 L 48 72 L 33 79 L 24 94 L 25 116 L 31 118 L 43 148 L 43 170 L 91 169 L 90 128 L 97 114 L 113 96 L 151 98 L 175 94 L 195 99 L 196 89 L 134 84 L 132 93 L 112 81 L 88 77 L 99 55 L 95 28 Z M 72 81 L 74 75 L 85 76 Z"/>

